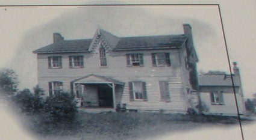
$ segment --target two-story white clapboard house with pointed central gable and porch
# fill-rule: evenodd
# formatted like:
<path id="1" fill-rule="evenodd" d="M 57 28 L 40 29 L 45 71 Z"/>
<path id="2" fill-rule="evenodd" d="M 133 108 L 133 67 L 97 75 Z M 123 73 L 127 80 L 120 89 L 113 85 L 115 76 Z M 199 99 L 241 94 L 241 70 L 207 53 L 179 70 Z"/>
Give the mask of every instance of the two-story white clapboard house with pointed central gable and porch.
<path id="1" fill-rule="evenodd" d="M 39 87 L 51 96 L 69 91 L 81 106 L 186 112 L 198 87 L 192 28 L 184 34 L 116 37 L 97 29 L 93 38 L 64 40 L 37 53 Z"/>

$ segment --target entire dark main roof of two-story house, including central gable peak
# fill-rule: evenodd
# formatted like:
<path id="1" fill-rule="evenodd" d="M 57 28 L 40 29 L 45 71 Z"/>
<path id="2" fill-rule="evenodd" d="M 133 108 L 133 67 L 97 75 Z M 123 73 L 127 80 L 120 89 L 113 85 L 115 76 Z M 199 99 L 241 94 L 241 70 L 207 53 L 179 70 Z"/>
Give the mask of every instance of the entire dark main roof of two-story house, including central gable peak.
<path id="1" fill-rule="evenodd" d="M 183 46 L 187 40 L 185 35 L 155 35 L 145 37 L 116 37 L 104 29 L 98 29 L 92 39 L 63 40 L 57 43 L 34 50 L 34 53 L 68 53 L 90 52 L 90 47 L 101 35 L 113 51 L 122 50 L 149 50 L 149 49 L 176 49 Z"/>

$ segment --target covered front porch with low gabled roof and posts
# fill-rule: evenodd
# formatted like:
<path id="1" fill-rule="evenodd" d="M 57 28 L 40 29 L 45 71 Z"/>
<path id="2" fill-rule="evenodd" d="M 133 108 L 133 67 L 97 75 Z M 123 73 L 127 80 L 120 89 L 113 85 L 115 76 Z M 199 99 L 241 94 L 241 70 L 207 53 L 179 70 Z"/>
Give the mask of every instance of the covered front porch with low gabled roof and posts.
<path id="1" fill-rule="evenodd" d="M 124 82 L 99 75 L 87 75 L 71 81 L 76 106 L 90 109 L 115 109 L 120 103 Z"/>

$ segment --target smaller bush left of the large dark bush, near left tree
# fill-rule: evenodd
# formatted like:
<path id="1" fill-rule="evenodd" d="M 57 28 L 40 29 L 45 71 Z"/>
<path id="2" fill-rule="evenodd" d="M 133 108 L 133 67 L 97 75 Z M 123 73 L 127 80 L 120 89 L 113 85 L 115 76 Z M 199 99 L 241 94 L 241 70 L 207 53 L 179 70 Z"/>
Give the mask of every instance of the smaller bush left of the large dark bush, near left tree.
<path id="1" fill-rule="evenodd" d="M 20 110 L 25 114 L 36 114 L 43 109 L 42 97 L 34 95 L 28 89 L 19 91 L 19 93 L 13 97 L 13 100 L 14 103 L 16 103 Z"/>

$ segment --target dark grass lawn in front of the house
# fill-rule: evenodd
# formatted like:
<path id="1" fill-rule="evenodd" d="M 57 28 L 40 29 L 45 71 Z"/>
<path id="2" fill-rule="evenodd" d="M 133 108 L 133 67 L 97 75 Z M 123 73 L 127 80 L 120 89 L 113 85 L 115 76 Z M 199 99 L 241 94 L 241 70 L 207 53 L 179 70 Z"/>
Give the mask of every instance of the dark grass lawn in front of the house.
<path id="1" fill-rule="evenodd" d="M 38 117 L 42 117 L 39 115 Z M 45 123 L 33 117 L 30 128 L 40 140 L 148 139 L 152 136 L 189 132 L 208 127 L 239 124 L 234 117 L 190 116 L 151 112 L 80 112 L 73 123 Z"/>

